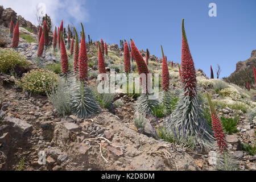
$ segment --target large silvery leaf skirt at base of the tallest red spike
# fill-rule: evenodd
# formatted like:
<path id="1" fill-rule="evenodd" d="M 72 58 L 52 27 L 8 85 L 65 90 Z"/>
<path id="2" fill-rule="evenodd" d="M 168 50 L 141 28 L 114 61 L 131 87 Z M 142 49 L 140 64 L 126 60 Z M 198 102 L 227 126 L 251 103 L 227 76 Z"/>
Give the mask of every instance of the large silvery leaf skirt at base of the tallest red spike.
<path id="1" fill-rule="evenodd" d="M 172 133 L 175 127 L 182 133 L 184 140 L 195 138 L 198 149 L 205 148 L 209 151 L 214 143 L 213 131 L 205 118 L 203 98 L 197 96 L 196 93 L 193 95 L 194 97 L 191 98 L 189 94 L 185 95 L 185 91 L 181 92 L 167 129 Z"/>

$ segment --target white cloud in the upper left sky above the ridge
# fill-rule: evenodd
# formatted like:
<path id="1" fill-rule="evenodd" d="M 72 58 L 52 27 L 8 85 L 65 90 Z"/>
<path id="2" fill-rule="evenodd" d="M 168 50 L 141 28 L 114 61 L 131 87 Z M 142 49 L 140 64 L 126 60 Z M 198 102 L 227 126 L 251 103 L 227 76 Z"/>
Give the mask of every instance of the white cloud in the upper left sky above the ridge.
<path id="1" fill-rule="evenodd" d="M 84 0 L 0 0 L 0 5 L 5 8 L 11 7 L 18 15 L 34 24 L 37 24 L 35 14 L 38 5 L 43 7 L 45 5 L 45 11 L 51 16 L 55 26 L 59 26 L 62 19 L 64 26 L 71 23 L 86 23 L 89 20 Z"/>

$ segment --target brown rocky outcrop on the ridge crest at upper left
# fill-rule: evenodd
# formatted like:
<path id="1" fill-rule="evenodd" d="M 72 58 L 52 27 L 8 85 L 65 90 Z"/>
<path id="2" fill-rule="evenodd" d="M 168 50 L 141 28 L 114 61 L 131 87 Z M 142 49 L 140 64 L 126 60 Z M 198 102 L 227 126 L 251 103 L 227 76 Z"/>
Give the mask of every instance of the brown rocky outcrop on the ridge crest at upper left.
<path id="1" fill-rule="evenodd" d="M 4 9 L 3 6 L 0 6 L 0 25 L 2 24 L 5 27 L 9 27 L 11 18 L 13 18 L 14 24 L 17 22 L 17 19 L 19 18 L 20 27 L 30 28 L 32 32 L 34 32 L 34 34 L 38 32 L 38 28 L 34 26 L 34 24 L 32 24 L 30 21 L 27 21 L 20 15 L 17 16 L 17 13 L 13 9 Z"/>

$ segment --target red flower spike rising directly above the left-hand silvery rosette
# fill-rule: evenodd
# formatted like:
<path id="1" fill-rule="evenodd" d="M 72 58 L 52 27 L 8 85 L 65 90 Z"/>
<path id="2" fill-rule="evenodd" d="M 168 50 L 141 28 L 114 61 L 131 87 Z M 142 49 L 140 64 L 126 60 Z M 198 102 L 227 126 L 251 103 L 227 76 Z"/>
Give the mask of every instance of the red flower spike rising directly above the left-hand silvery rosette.
<path id="1" fill-rule="evenodd" d="M 82 23 L 81 23 L 82 26 Z M 85 43 L 84 26 L 82 26 L 82 39 L 79 51 L 79 79 L 80 81 L 86 81 L 88 76 L 88 58 Z"/>

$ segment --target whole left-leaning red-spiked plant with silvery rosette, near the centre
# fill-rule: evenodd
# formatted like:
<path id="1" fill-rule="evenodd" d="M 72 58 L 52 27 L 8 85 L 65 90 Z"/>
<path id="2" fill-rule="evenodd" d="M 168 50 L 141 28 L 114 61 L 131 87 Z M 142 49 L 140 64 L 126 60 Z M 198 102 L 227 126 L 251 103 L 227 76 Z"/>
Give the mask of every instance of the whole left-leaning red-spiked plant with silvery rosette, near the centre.
<path id="1" fill-rule="evenodd" d="M 152 117 L 154 107 L 159 104 L 159 101 L 158 98 L 154 98 L 154 96 L 152 96 L 152 94 L 148 92 L 151 84 L 149 84 L 148 82 L 148 79 L 150 78 L 148 77 L 149 71 L 147 68 L 147 64 L 145 63 L 138 48 L 135 46 L 133 40 L 131 40 L 131 49 L 133 51 L 134 59 L 137 63 L 139 75 L 144 74 L 146 76 L 146 83 L 141 80 L 142 94 L 136 102 L 136 110 L 138 111 L 138 113 L 144 114 L 147 117 Z"/>

